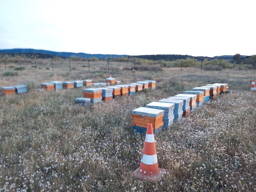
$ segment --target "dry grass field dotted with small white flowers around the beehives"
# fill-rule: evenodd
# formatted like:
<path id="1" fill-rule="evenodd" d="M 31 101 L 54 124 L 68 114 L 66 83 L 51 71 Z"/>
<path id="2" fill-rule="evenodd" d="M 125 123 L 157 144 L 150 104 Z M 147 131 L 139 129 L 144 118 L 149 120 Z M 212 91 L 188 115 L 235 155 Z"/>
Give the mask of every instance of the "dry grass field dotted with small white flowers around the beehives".
<path id="1" fill-rule="evenodd" d="M 74 102 L 82 88 L 34 89 L 52 80 L 104 82 L 106 62 L 92 62 L 91 73 L 82 63 L 69 73 L 67 60 L 53 72 L 50 61 L 41 62 L 46 66 L 35 71 L 27 64 L 14 76 L 0 70 L 1 86 L 30 89 L 0 97 L 0 191 L 256 191 L 256 94 L 249 91 L 255 70 L 135 71 L 116 62 L 112 77 L 124 84 L 154 79 L 157 89 L 85 107 Z M 228 83 L 231 93 L 155 136 L 162 179 L 133 178 L 144 136 L 132 135 L 131 110 L 215 82 Z"/>

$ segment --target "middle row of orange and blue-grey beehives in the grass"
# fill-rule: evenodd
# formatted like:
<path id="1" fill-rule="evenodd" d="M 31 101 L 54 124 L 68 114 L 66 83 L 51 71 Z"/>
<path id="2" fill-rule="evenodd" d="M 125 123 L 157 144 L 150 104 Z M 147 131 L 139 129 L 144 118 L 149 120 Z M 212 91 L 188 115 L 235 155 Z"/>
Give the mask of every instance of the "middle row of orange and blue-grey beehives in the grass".
<path id="1" fill-rule="evenodd" d="M 110 82 L 110 84 L 115 84 L 115 79 Z M 127 85 L 108 86 L 105 88 L 88 88 L 83 90 L 84 97 L 76 98 L 75 101 L 79 104 L 89 105 L 90 103 L 99 103 L 102 100 L 111 101 L 113 98 L 118 96 L 125 96 L 128 94 L 133 95 L 136 92 L 143 91 L 144 89 L 155 89 L 155 87 L 156 81 L 148 80 L 138 81 Z"/>

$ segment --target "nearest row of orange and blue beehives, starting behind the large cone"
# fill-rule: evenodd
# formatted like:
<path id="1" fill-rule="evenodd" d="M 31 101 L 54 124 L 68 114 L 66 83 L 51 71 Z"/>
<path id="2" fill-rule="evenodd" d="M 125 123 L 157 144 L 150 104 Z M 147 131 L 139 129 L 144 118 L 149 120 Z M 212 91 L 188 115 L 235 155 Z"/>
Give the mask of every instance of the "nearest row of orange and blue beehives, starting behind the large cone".
<path id="1" fill-rule="evenodd" d="M 228 91 L 227 84 L 215 83 L 195 87 L 192 91 L 184 91 L 158 102 L 151 102 L 146 107 L 132 110 L 133 132 L 146 133 L 148 123 L 151 123 L 154 133 L 168 129 L 175 121 L 179 121 L 192 113 L 196 107 L 201 107 L 210 98 L 216 98 L 220 93 Z"/>

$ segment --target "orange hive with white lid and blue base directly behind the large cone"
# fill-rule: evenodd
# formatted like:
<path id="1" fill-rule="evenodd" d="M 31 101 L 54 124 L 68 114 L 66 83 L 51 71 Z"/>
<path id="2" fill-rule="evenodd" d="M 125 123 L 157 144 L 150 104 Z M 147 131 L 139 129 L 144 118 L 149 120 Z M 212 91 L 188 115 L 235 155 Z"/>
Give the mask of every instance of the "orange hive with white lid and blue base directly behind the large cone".
<path id="1" fill-rule="evenodd" d="M 140 107 L 132 110 L 133 132 L 146 133 L 148 123 L 152 124 L 154 133 L 162 131 L 164 110 Z"/>

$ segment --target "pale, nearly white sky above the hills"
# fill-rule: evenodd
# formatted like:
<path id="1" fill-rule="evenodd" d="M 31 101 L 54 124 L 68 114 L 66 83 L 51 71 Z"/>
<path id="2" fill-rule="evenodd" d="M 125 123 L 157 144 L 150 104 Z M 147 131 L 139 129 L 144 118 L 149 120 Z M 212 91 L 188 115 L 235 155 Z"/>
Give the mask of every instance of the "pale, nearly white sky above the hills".
<path id="1" fill-rule="evenodd" d="M 0 49 L 256 54 L 254 0 L 0 0 Z"/>

